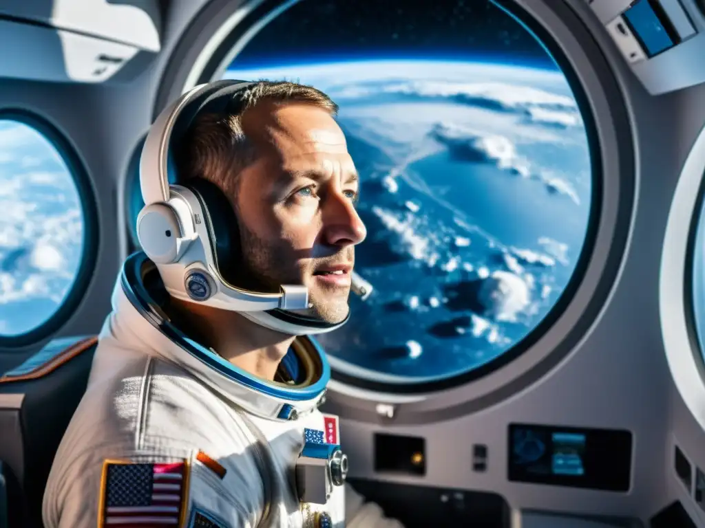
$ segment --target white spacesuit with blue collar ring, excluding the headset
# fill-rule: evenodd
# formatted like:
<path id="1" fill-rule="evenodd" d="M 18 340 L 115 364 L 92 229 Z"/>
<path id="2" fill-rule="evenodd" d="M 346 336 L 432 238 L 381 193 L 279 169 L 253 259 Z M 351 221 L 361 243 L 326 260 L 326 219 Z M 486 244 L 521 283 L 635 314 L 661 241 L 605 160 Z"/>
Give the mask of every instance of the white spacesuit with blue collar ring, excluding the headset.
<path id="1" fill-rule="evenodd" d="M 150 266 L 140 254 L 125 268 L 135 265 Z M 156 307 L 143 311 L 149 301 L 126 284 L 129 272 L 116 284 L 85 396 L 56 453 L 46 528 L 151 525 L 154 517 L 167 526 L 324 527 L 320 513 L 333 527 L 400 526 L 347 485 L 333 484 L 324 505 L 300 502 L 292 479 L 305 436 L 340 442 L 337 417 L 317 410 L 330 371 L 314 341 L 298 339 L 290 352 L 309 382 L 263 382 L 187 337 L 173 339 L 178 330 L 155 321 Z M 281 419 L 293 411 L 297 420 Z M 315 477 L 309 485 L 321 484 Z"/>

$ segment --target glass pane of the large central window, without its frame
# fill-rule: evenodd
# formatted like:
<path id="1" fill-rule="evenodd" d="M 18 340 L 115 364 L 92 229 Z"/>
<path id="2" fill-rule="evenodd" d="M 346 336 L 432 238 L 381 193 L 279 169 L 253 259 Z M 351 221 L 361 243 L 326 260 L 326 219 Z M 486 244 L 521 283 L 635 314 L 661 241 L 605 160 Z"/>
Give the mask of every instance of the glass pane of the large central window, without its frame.
<path id="1" fill-rule="evenodd" d="M 338 372 L 435 382 L 519 353 L 574 279 L 592 167 L 562 70 L 494 4 L 300 1 L 223 78 L 295 80 L 340 106 L 369 232 Z M 577 277 L 578 279 L 580 277 Z"/>

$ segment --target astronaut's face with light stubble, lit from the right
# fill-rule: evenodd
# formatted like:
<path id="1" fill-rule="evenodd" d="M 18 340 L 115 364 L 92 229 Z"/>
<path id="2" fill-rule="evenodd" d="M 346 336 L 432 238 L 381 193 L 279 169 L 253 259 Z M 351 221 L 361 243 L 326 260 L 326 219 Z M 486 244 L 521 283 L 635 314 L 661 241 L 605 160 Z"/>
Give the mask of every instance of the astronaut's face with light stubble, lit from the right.
<path id="1" fill-rule="evenodd" d="M 357 172 L 345 136 L 323 108 L 261 103 L 243 115 L 257 158 L 240 176 L 235 205 L 250 273 L 266 284 L 304 284 L 326 322 L 348 315 Z"/>

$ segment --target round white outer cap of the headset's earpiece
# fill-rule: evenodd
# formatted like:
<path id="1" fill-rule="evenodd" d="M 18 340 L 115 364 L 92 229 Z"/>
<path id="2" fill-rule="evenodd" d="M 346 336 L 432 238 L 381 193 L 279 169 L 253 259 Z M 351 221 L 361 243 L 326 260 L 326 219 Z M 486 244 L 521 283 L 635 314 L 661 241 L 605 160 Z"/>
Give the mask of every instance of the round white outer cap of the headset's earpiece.
<path id="1" fill-rule="evenodd" d="M 166 203 L 145 206 L 137 216 L 137 238 L 142 250 L 157 264 L 176 262 L 185 250 L 178 214 Z"/>

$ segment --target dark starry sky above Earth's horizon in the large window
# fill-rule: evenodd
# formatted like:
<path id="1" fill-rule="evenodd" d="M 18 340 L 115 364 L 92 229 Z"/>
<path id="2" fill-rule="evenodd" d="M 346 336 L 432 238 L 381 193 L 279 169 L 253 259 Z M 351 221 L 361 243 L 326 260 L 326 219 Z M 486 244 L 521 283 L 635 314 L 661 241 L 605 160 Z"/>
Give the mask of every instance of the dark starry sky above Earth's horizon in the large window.
<path id="1" fill-rule="evenodd" d="M 342 58 L 462 58 L 553 67 L 489 0 L 300 0 L 250 41 L 235 67 Z"/>

